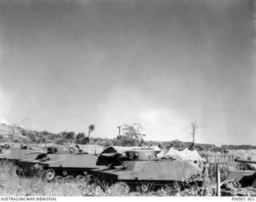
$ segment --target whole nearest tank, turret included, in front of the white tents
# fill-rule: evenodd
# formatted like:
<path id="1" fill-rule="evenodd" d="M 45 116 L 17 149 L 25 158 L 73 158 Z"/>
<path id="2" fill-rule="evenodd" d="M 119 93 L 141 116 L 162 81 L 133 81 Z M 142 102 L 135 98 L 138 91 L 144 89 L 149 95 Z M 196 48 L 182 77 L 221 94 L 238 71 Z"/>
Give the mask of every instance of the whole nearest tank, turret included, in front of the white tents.
<path id="1" fill-rule="evenodd" d="M 136 191 L 173 184 L 174 181 L 202 184 L 201 170 L 186 160 L 158 159 L 154 150 L 129 150 L 123 154 L 99 155 L 97 165 L 108 168 L 93 170 L 95 180 L 102 184 L 122 181 Z"/>

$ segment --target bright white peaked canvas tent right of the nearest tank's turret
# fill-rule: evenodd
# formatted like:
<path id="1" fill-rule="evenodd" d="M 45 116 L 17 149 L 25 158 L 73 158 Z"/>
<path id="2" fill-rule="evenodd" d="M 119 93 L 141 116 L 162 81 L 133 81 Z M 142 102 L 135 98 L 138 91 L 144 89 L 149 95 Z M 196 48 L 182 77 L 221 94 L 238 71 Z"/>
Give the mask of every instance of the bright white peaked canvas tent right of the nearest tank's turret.
<path id="1" fill-rule="evenodd" d="M 177 160 L 200 160 L 202 157 L 198 154 L 197 150 L 190 151 L 189 149 L 184 149 L 183 151 L 178 151 L 174 148 L 170 148 L 166 153 L 158 155 L 159 158 L 174 158 Z"/>

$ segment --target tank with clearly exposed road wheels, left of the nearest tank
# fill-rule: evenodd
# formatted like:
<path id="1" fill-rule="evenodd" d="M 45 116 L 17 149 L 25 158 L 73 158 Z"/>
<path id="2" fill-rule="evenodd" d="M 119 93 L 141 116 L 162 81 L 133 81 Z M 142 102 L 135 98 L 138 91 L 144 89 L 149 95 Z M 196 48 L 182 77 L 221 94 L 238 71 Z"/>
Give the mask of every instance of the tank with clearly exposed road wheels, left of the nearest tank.
<path id="1" fill-rule="evenodd" d="M 98 156 L 83 152 L 78 147 L 52 146 L 35 159 L 20 160 L 18 175 L 42 175 L 47 181 L 86 180 L 88 171 L 100 168 L 96 165 Z"/>

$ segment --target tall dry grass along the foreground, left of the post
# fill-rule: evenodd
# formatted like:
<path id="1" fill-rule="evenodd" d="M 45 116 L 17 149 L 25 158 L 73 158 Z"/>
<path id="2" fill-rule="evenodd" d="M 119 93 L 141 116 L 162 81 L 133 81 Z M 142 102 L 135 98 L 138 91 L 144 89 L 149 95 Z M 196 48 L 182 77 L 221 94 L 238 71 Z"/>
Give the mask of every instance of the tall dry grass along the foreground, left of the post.
<path id="1" fill-rule="evenodd" d="M 88 183 L 55 183 L 46 182 L 38 177 L 26 178 L 17 176 L 13 164 L 0 165 L 0 195 L 1 196 L 213 196 L 210 184 L 203 188 L 190 186 L 181 189 L 173 184 L 159 189 L 157 192 L 130 192 L 125 183 L 114 184 L 104 190 L 97 184 Z"/>

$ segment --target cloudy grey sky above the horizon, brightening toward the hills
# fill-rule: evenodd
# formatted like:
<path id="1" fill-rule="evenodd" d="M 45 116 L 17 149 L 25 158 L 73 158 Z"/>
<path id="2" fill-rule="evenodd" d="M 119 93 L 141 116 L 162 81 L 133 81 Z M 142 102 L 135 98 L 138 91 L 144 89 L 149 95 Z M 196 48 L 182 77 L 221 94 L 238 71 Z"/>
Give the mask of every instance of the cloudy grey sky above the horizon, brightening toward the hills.
<path id="1" fill-rule="evenodd" d="M 0 0 L 0 121 L 256 142 L 254 0 Z"/>

